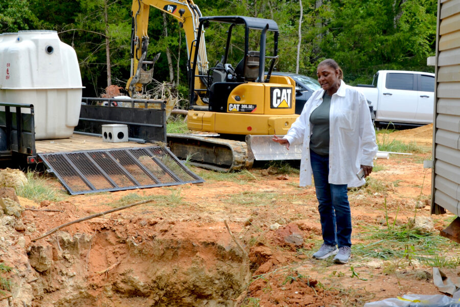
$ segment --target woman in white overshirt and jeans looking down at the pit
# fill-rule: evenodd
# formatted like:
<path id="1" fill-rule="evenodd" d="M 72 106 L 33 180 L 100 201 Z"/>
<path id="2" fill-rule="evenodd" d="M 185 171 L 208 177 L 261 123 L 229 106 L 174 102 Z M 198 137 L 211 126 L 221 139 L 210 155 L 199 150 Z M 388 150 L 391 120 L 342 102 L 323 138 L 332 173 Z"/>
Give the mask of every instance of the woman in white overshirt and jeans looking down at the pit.
<path id="1" fill-rule="evenodd" d="M 321 89 L 315 91 L 286 136 L 273 136 L 285 145 L 303 143 L 300 185 L 315 183 L 324 243 L 313 258 L 336 255 L 345 264 L 351 254 L 351 213 L 347 187 L 365 183 L 377 153 L 375 130 L 362 93 L 345 84 L 342 70 L 333 59 L 318 64 Z M 338 246 L 338 249 L 336 247 Z"/>

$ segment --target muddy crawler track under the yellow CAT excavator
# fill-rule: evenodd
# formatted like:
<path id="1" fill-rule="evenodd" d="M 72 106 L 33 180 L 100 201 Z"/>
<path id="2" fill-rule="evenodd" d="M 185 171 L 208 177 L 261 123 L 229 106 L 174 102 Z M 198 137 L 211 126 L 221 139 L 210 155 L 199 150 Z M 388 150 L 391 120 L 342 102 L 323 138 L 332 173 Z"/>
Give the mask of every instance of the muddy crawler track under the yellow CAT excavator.
<path id="1" fill-rule="evenodd" d="M 254 157 L 248 155 L 245 142 L 214 137 L 168 134 L 167 143 L 174 155 L 194 166 L 229 172 L 251 168 Z"/>

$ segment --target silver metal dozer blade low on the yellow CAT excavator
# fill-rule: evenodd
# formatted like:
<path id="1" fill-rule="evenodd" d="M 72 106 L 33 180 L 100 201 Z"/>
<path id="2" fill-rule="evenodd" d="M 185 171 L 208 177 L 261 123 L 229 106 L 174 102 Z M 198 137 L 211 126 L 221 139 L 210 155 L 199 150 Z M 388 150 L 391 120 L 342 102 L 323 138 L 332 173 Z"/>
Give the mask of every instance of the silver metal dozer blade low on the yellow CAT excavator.
<path id="1" fill-rule="evenodd" d="M 300 160 L 302 144 L 291 145 L 289 150 L 272 140 L 273 136 L 246 136 L 248 156 L 254 160 Z"/>

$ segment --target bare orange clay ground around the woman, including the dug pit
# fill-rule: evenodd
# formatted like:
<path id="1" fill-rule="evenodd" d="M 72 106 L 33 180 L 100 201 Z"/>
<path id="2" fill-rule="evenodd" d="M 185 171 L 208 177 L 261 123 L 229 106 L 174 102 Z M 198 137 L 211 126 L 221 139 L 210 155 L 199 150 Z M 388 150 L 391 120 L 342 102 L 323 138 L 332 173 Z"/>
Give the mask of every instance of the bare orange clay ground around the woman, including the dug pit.
<path id="1" fill-rule="evenodd" d="M 395 225 L 406 224 L 415 215 L 417 200 L 426 204 L 417 215 L 430 217 L 431 170 L 422 162 L 431 157 L 431 135 L 418 134 L 421 130 L 426 134 L 430 127 L 417 129 L 411 129 L 412 135 L 410 130 L 392 135 L 404 141 L 417 136 L 426 153 L 376 160 L 378 171 L 371 175 L 375 186 L 350 192 L 354 245 L 367 242 L 363 234 L 368 227 L 386 227 L 385 204 L 388 221 Z M 407 293 L 441 294 L 433 285 L 432 269 L 418 262 L 407 266 L 405 259 L 352 255 L 349 264 L 335 265 L 330 259 L 312 259 L 321 244 L 315 191 L 298 187 L 294 172 L 252 169 L 251 174 L 217 178 L 208 170 L 192 170 L 206 182 L 70 196 L 58 203 L 24 200 L 26 206 L 63 211 L 22 214 L 22 222 L 33 226 L 32 232 L 24 233 L 26 247 L 49 244 L 53 249 L 54 268 L 36 273 L 44 290 L 33 305 L 48 306 L 45 301 L 52 301 L 62 306 L 362 306 Z M 57 181 L 52 184 L 60 188 Z M 112 209 L 132 193 L 167 197 L 74 224 L 63 229 L 67 239 L 61 234 L 30 242 L 58 225 Z M 431 218 L 439 231 L 453 215 Z M 84 239 L 76 239 L 78 234 Z M 69 247 L 62 246 L 65 242 Z M 73 262 L 65 256 L 72 246 Z M 439 251 L 444 257 L 458 252 L 457 246 Z M 70 286 L 57 284 L 69 282 L 73 273 L 62 273 L 66 270 L 73 270 L 72 278 L 86 289 L 73 302 L 63 299 Z M 458 272 L 457 267 L 445 271 L 452 276 Z"/>

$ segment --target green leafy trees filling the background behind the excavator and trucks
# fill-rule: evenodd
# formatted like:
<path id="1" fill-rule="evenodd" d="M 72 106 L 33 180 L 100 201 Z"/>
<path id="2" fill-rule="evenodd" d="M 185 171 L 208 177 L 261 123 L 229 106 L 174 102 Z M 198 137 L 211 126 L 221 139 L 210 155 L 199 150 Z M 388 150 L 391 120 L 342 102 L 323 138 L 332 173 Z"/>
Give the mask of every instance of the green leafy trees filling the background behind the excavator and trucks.
<path id="1" fill-rule="evenodd" d="M 297 1 L 196 0 L 195 4 L 203 16 L 245 15 L 275 20 L 280 31 L 279 61 L 275 68 L 295 71 L 300 16 Z M 86 86 L 84 96 L 97 96 L 107 85 L 106 38 L 110 47 L 111 83 L 124 87 L 129 78 L 131 5 L 129 0 L 2 1 L 0 30 L 58 31 L 61 40 L 77 52 Z M 370 82 L 379 69 L 432 71 L 433 68 L 426 65 L 426 57 L 434 54 L 436 9 L 435 0 L 303 1 L 300 73 L 315 76 L 316 65 L 325 58 L 336 59 L 344 71 L 345 81 L 351 84 Z M 210 65 L 224 52 L 225 31 L 223 25 L 206 29 Z M 242 56 L 243 32 L 235 30 L 235 34 L 229 50 L 229 62 L 234 67 Z M 148 35 L 147 59 L 162 53 L 155 63 L 154 78 L 170 81 L 165 55 L 169 49 L 177 91 L 186 95 L 188 59 L 183 29 L 169 15 L 165 27 L 162 12 L 151 8 Z M 257 50 L 258 40 L 257 34 L 250 36 L 254 46 L 251 48 Z M 271 44 L 268 40 L 267 50 Z M 179 80 L 176 80 L 177 67 Z"/>

